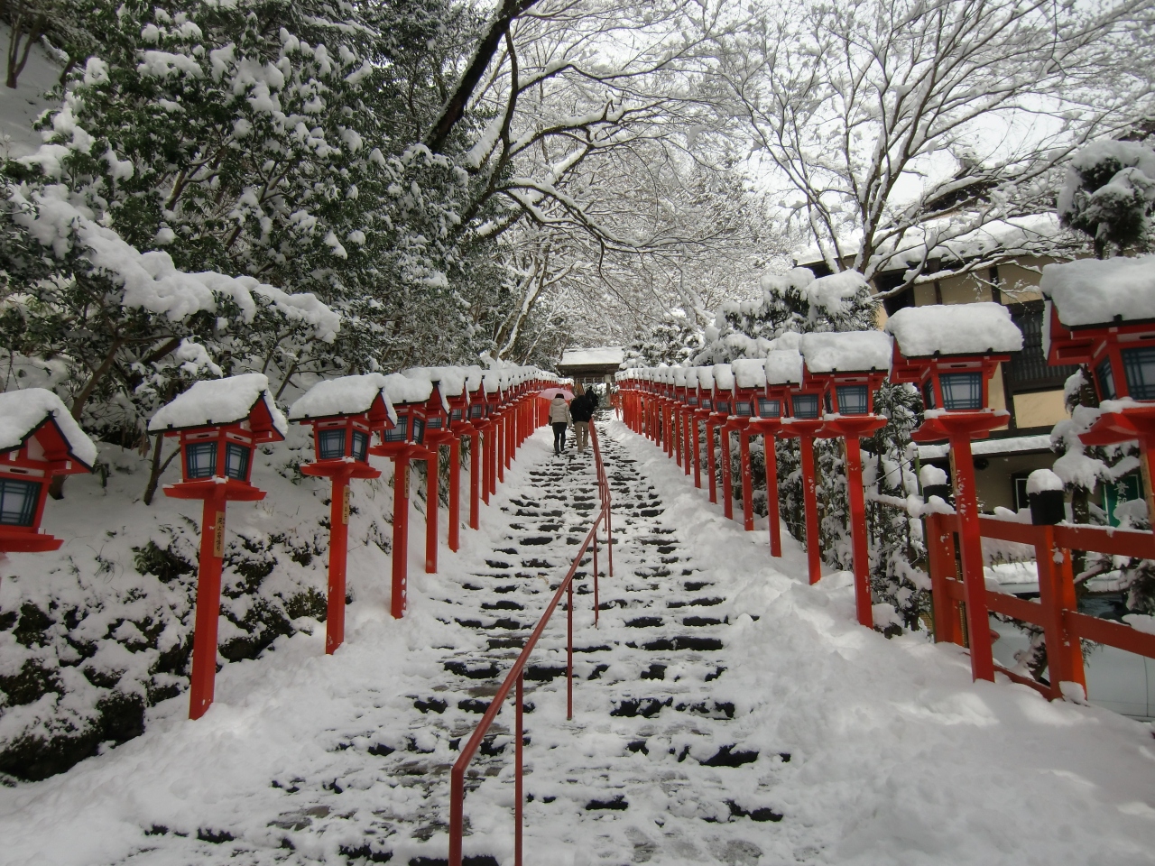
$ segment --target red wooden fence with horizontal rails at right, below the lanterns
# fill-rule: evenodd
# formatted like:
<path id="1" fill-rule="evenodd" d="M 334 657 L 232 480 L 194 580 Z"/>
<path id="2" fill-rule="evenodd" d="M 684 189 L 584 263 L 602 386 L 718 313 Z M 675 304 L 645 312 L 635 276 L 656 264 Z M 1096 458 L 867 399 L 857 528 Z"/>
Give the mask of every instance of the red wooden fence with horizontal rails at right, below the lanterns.
<path id="1" fill-rule="evenodd" d="M 1029 523 L 999 520 L 988 515 L 978 517 L 979 535 L 1005 542 L 1031 545 L 1038 568 L 1038 600 L 1028 600 L 1006 592 L 984 588 L 982 598 L 988 612 L 1001 613 L 1012 619 L 1043 628 L 1050 685 L 1023 677 L 1001 665 L 996 669 L 1012 680 L 1037 688 L 1051 699 L 1063 697 L 1063 684 L 1078 684 L 1087 693 L 1080 640 L 1155 658 L 1155 634 L 1140 632 L 1131 626 L 1079 613 L 1075 584 L 1071 567 L 1071 551 L 1094 551 L 1118 557 L 1155 559 L 1155 535 L 1146 531 L 1059 523 L 1036 527 Z M 990 640 L 990 635 L 966 634 L 968 595 L 959 580 L 955 566 L 955 532 L 959 516 L 932 514 L 926 518 L 927 566 L 931 573 L 931 596 L 934 607 L 934 640 L 960 645 Z M 979 618 L 985 621 L 985 617 Z"/>

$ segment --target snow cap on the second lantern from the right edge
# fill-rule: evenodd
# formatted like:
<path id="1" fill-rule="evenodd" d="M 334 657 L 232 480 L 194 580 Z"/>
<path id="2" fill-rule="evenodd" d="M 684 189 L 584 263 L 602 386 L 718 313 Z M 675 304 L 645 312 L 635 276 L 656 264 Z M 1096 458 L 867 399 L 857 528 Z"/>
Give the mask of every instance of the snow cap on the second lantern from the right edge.
<path id="1" fill-rule="evenodd" d="M 932 304 L 903 307 L 886 322 L 907 358 L 1018 352 L 1022 331 L 1001 304 Z"/>

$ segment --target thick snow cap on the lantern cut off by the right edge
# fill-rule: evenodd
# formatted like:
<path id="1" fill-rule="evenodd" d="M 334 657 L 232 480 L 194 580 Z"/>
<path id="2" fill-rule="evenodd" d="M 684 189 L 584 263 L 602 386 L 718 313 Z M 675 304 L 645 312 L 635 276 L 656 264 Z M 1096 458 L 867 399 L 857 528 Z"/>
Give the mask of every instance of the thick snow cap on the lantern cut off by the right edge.
<path id="1" fill-rule="evenodd" d="M 1155 319 L 1155 255 L 1048 264 L 1038 288 L 1068 328 Z"/>

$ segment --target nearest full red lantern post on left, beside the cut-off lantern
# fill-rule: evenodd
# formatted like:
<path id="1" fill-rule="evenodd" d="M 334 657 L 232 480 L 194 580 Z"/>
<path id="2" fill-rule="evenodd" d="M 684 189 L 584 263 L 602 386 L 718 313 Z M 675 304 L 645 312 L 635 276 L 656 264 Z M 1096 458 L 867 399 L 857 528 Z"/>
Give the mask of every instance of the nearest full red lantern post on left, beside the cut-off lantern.
<path id="1" fill-rule="evenodd" d="M 269 380 L 248 373 L 194 383 L 162 406 L 148 428 L 180 440 L 184 480 L 165 485 L 165 495 L 204 502 L 188 695 L 188 717 L 200 718 L 213 703 L 216 680 L 225 506 L 264 499 L 264 491 L 248 480 L 253 449 L 284 439 L 288 424 L 269 394 Z"/>

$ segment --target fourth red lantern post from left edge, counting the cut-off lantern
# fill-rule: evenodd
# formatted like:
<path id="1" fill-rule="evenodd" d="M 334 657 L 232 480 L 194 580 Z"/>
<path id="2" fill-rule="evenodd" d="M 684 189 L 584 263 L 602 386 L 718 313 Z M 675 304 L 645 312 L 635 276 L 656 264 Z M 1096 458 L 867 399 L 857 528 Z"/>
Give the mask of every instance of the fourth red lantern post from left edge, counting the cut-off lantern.
<path id="1" fill-rule="evenodd" d="M 405 615 L 409 583 L 409 462 L 426 460 L 425 405 L 432 393 L 429 380 L 409 379 L 400 373 L 385 378 L 385 394 L 396 420 L 386 427 L 381 442 L 370 454 L 393 460 L 393 599 L 390 613 Z"/>

